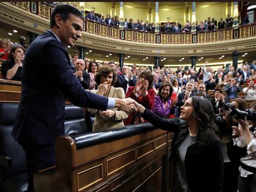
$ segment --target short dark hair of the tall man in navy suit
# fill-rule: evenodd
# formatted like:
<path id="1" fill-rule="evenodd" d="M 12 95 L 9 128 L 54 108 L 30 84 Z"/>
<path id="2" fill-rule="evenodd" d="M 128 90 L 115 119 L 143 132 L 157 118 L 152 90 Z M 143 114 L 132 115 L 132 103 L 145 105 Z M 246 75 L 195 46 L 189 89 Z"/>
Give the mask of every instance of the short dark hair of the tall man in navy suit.
<path id="1" fill-rule="evenodd" d="M 64 22 L 69 19 L 69 14 L 80 17 L 82 20 L 84 19 L 83 14 L 79 9 L 70 6 L 69 4 L 58 4 L 51 13 L 50 27 L 53 27 L 56 24 L 55 15 L 57 14 L 61 15 L 61 18 L 64 20 Z"/>

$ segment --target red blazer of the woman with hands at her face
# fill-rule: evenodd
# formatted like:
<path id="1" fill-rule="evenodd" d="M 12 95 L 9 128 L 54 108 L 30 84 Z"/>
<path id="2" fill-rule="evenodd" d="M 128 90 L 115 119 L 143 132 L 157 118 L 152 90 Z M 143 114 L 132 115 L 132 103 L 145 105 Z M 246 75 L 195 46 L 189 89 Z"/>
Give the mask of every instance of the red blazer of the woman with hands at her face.
<path id="1" fill-rule="evenodd" d="M 144 97 L 139 97 L 137 98 L 135 96 L 134 93 L 132 93 L 132 91 L 134 91 L 134 86 L 129 86 L 127 93 L 126 93 L 126 98 L 132 98 L 135 101 L 137 101 L 139 104 L 142 104 L 142 106 L 146 107 L 147 109 L 153 109 L 154 107 L 154 101 L 155 101 L 155 91 L 150 88 L 148 89 L 148 94 Z M 129 116 L 127 117 L 127 119 L 124 119 L 124 125 L 131 125 L 134 124 L 132 117 L 134 116 L 134 113 L 129 114 Z"/>

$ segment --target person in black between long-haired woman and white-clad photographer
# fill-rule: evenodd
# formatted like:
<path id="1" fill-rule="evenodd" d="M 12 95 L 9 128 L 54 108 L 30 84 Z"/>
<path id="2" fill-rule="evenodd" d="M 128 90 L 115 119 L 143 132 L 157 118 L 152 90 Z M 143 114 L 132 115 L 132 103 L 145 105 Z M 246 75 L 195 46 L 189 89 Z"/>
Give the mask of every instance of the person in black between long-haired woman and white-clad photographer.
<path id="1" fill-rule="evenodd" d="M 232 133 L 233 126 L 238 125 L 235 118 L 237 109 L 245 111 L 246 108 L 247 103 L 244 99 L 236 98 L 230 104 L 222 104 L 220 106 L 220 117 L 216 118 L 224 154 L 223 192 L 237 191 L 238 167 L 241 157 L 246 154 L 246 149 L 234 146 Z"/>

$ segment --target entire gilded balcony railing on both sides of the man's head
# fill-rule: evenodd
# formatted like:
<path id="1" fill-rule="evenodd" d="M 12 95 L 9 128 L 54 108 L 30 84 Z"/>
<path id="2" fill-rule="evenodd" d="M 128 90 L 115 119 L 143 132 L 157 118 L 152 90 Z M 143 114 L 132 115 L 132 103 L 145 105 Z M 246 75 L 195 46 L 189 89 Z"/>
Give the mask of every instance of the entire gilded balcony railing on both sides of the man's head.
<path id="1" fill-rule="evenodd" d="M 10 2 L 28 12 L 49 19 L 54 7 L 46 2 Z M 158 44 L 189 44 L 189 43 L 215 43 L 238 38 L 256 36 L 256 23 L 242 25 L 238 28 L 226 28 L 216 31 L 196 33 L 153 33 L 129 29 L 121 29 L 103 23 L 85 20 L 83 30 L 95 35 L 140 43 Z"/>

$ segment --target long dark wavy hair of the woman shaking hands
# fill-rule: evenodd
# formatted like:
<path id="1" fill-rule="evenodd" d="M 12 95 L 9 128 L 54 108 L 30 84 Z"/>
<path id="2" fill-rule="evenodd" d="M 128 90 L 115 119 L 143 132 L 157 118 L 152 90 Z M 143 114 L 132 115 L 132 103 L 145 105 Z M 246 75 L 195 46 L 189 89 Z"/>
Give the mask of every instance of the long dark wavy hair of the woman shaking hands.
<path id="1" fill-rule="evenodd" d="M 193 96 L 192 104 L 194 107 L 193 117 L 198 122 L 197 142 L 203 144 L 210 135 L 217 137 L 218 128 L 214 122 L 215 112 L 213 111 L 211 101 L 208 99 Z"/>

